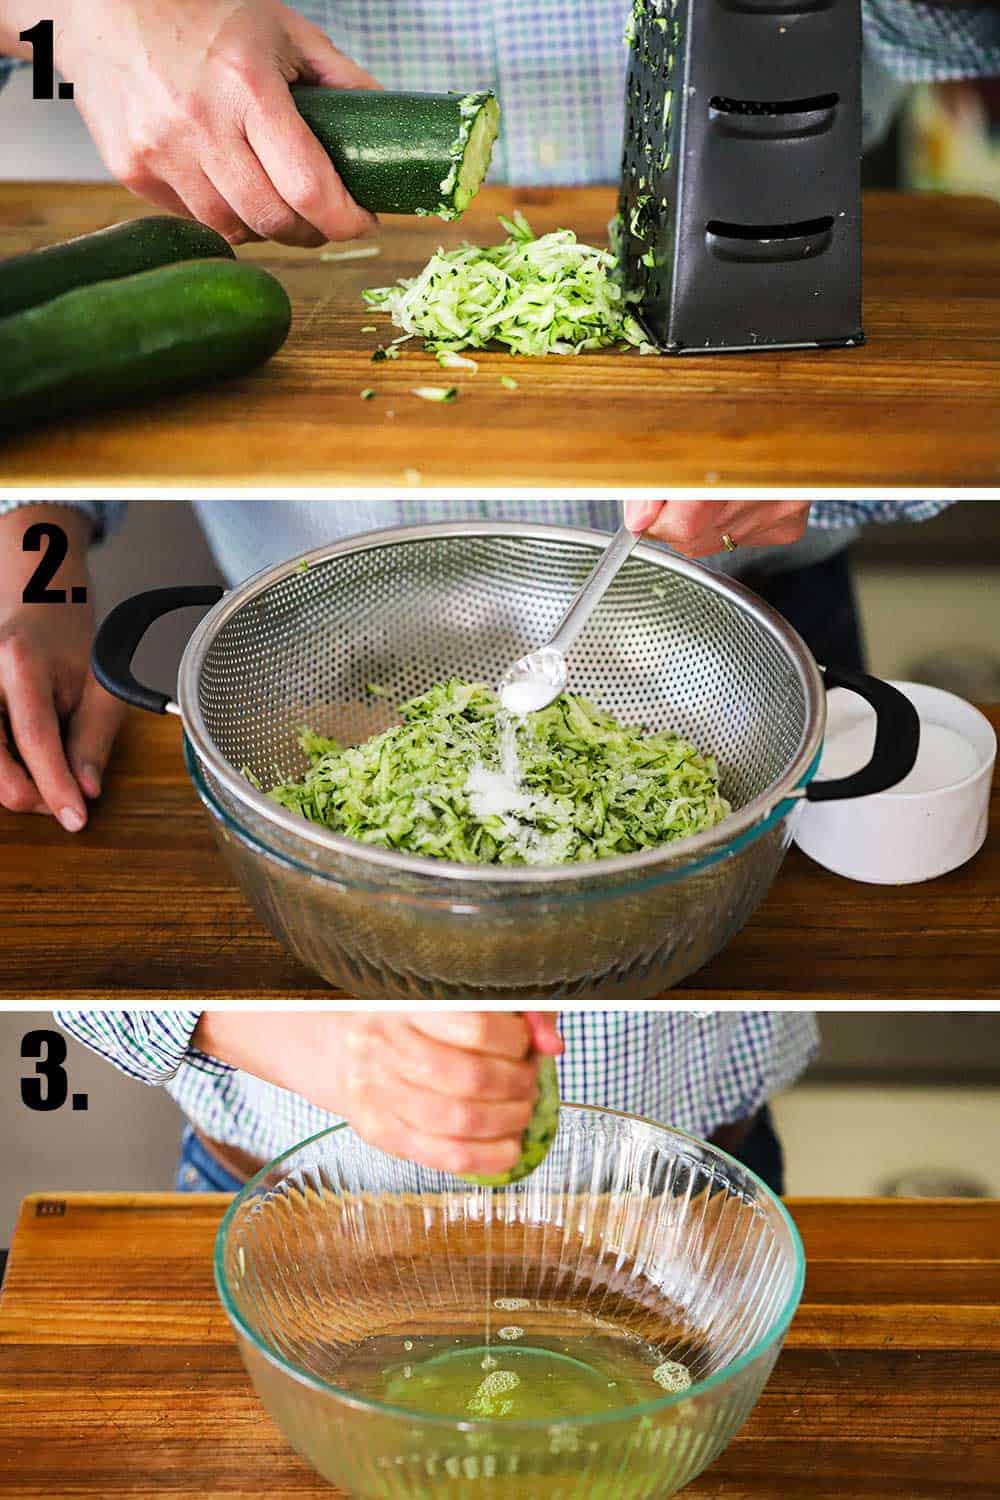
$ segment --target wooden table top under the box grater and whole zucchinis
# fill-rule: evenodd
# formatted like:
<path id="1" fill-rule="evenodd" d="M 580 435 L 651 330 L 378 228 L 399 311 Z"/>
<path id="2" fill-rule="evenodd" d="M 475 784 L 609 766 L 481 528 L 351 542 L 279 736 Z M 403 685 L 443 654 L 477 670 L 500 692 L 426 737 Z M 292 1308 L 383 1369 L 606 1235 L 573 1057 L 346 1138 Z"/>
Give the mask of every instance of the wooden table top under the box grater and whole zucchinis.
<path id="1" fill-rule="evenodd" d="M 589 488 L 996 486 L 1000 483 L 1000 204 L 870 194 L 861 350 L 642 358 L 511 360 L 447 372 L 457 402 L 415 386 L 445 372 L 415 348 L 372 364 L 378 322 L 361 288 L 414 274 L 438 244 L 495 243 L 496 213 L 538 232 L 607 242 L 610 188 L 486 189 L 462 224 L 387 219 L 376 260 L 243 250 L 295 308 L 264 370 L 130 412 L 58 422 L 7 441 L 9 486 Z M 147 213 L 108 184 L 0 184 L 0 256 Z M 382 332 L 385 330 L 385 332 Z M 514 372 L 520 388 L 504 390 Z M 375 400 L 360 400 L 364 387 Z"/>

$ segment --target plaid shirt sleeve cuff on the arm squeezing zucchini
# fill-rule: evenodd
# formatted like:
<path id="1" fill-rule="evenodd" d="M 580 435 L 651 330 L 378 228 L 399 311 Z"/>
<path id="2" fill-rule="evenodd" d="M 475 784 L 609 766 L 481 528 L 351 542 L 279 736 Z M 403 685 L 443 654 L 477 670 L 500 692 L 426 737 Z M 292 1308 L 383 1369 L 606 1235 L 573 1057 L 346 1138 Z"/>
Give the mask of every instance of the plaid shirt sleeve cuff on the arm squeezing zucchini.
<path id="1" fill-rule="evenodd" d="M 169 1083 L 183 1065 L 216 1076 L 235 1071 L 192 1047 L 201 1011 L 54 1011 L 54 1016 L 64 1032 L 139 1083 Z"/>

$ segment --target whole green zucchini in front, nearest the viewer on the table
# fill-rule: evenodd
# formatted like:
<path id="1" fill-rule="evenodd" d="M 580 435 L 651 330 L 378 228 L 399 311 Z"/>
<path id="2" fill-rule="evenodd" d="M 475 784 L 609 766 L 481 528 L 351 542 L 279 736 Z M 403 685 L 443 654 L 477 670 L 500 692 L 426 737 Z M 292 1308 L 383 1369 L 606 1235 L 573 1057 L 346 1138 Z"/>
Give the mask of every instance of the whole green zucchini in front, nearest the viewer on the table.
<path id="1" fill-rule="evenodd" d="M 241 261 L 186 261 L 81 286 L 0 321 L 0 428 L 241 375 L 288 336 L 280 282 Z"/>

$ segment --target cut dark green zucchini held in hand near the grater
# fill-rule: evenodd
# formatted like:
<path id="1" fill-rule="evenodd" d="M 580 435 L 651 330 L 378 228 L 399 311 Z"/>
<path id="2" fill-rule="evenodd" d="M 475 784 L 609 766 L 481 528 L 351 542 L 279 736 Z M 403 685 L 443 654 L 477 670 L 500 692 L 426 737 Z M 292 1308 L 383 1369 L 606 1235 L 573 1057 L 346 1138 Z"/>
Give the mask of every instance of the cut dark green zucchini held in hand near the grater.
<path id="1" fill-rule="evenodd" d="M 460 218 L 483 186 L 499 129 L 492 93 L 292 88 L 345 188 L 370 213 Z"/>

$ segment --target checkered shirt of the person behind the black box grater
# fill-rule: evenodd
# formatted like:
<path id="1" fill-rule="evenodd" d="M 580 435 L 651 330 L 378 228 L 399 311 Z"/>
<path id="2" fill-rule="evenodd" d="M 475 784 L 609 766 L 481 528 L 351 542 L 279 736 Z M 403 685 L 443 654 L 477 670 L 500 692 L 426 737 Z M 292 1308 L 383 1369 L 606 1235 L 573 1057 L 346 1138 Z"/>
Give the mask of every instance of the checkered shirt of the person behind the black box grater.
<path id="1" fill-rule="evenodd" d="M 618 177 L 633 0 L 294 0 L 388 88 L 493 88 L 504 136 L 493 177 L 523 184 Z M 1000 74 L 996 4 L 862 0 L 865 112 L 876 136 L 900 81 Z M 0 58 L 0 82 L 9 64 Z"/>

